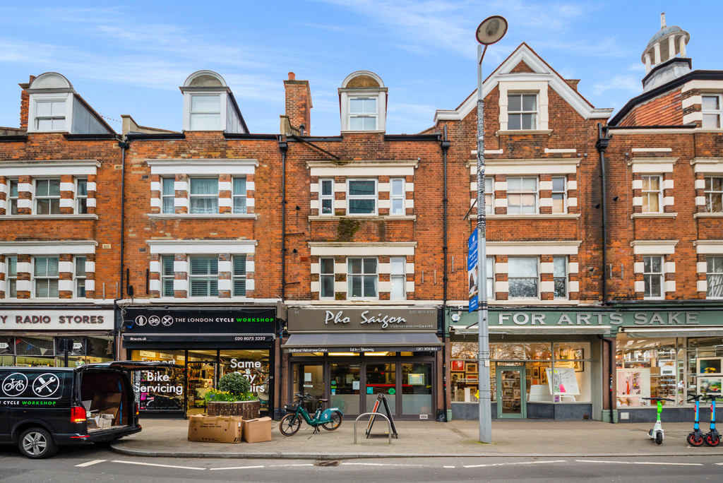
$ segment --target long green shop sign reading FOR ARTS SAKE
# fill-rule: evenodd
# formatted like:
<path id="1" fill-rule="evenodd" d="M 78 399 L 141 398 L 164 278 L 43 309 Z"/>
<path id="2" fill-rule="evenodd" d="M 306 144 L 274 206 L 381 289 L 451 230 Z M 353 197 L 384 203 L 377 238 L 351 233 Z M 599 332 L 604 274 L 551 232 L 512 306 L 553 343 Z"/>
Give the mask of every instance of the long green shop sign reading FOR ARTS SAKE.
<path id="1" fill-rule="evenodd" d="M 472 320 L 474 318 L 474 320 Z M 539 326 L 573 327 L 584 325 L 612 325 L 614 327 L 696 327 L 700 325 L 721 325 L 723 310 L 638 310 L 638 311 L 509 311 L 490 310 L 489 327 Z M 455 325 L 471 325 L 476 315 L 461 314 Z"/>

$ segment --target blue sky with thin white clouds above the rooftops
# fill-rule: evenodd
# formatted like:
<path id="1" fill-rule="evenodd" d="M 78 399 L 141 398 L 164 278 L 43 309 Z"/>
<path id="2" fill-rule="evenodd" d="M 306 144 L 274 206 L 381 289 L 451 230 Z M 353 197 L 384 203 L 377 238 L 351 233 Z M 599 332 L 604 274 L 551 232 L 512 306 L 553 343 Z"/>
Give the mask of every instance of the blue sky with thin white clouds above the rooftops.
<path id="1" fill-rule="evenodd" d="M 59 72 L 120 132 L 120 115 L 181 129 L 179 86 L 210 69 L 233 90 L 251 132 L 278 133 L 283 80 L 309 80 L 311 134 L 339 133 L 338 87 L 356 70 L 389 89 L 387 132 L 416 133 L 476 88 L 476 26 L 509 30 L 489 74 L 526 42 L 597 108 L 641 93 L 641 54 L 667 25 L 690 33 L 693 69 L 723 69 L 720 1 L 275 0 L 7 2 L 0 15 L 0 126 L 20 124 L 20 87 Z"/>

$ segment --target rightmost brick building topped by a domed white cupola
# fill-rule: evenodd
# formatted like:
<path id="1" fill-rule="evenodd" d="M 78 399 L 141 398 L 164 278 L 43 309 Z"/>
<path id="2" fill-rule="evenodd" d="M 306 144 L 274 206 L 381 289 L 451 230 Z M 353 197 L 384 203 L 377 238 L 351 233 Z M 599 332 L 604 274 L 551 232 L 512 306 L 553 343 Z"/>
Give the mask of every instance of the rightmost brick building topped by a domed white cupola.
<path id="1" fill-rule="evenodd" d="M 723 72 L 693 70 L 689 38 L 662 17 L 641 58 L 643 93 L 599 140 L 604 299 L 635 312 L 617 331 L 621 421 L 654 419 L 646 396 L 688 420 L 688 396 L 715 393 L 723 375 Z"/>

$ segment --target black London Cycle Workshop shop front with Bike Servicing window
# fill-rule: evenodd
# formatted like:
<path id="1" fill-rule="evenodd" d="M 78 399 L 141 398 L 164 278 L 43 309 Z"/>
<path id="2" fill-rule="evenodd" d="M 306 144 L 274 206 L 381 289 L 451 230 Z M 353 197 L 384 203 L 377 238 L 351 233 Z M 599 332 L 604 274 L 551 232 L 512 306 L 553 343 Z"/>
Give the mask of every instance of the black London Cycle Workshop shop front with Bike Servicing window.
<path id="1" fill-rule="evenodd" d="M 205 393 L 228 372 L 249 379 L 262 414 L 273 414 L 276 309 L 124 309 L 127 359 L 167 361 L 181 369 L 137 371 L 145 416 L 185 417 L 205 412 Z"/>

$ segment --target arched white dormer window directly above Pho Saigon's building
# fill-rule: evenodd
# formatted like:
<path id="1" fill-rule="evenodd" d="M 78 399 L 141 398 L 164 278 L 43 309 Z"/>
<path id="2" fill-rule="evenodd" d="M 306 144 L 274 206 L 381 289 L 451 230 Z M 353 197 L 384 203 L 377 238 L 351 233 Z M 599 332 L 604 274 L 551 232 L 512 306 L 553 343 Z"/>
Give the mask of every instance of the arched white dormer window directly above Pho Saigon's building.
<path id="1" fill-rule="evenodd" d="M 377 74 L 349 74 L 339 89 L 342 131 L 384 131 L 387 88 Z"/>

